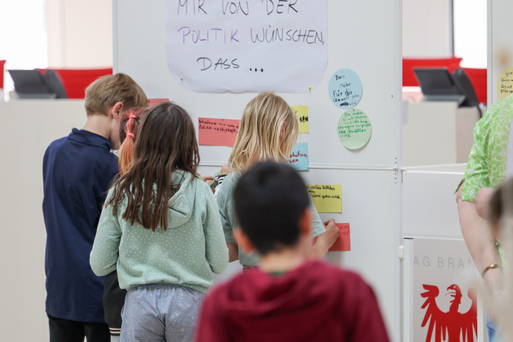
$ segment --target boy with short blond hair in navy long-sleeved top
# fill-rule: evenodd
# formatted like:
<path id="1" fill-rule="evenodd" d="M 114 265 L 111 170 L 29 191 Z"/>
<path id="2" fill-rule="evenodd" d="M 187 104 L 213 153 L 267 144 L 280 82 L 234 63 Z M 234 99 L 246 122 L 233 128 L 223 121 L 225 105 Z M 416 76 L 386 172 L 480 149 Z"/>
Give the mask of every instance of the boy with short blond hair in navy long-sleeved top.
<path id="1" fill-rule="evenodd" d="M 121 116 L 147 105 L 123 73 L 103 76 L 86 89 L 86 125 L 53 141 L 43 157 L 46 225 L 46 314 L 50 341 L 110 341 L 103 315 L 103 277 L 89 265 L 105 194 L 118 173 Z"/>

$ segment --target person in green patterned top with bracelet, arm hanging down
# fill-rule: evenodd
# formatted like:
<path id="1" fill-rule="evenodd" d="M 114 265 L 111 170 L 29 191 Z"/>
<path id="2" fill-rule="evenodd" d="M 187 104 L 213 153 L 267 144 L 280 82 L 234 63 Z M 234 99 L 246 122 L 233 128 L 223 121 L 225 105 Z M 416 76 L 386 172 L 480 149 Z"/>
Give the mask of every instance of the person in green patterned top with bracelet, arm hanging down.
<path id="1" fill-rule="evenodd" d="M 492 295 L 502 291 L 501 260 L 495 238 L 484 220 L 489 198 L 507 172 L 509 132 L 513 119 L 513 95 L 495 103 L 474 128 L 465 176 L 457 190 L 460 226 L 477 269 Z"/>

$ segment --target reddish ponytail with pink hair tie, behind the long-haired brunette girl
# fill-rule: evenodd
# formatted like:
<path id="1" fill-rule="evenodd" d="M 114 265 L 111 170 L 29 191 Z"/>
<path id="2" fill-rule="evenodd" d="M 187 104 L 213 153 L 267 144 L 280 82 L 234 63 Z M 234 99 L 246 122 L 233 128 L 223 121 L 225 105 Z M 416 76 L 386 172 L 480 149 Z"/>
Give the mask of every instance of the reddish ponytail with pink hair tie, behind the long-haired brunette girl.
<path id="1" fill-rule="evenodd" d="M 135 145 L 135 138 L 138 135 L 138 130 L 142 119 L 146 115 L 146 108 L 130 108 L 121 117 L 120 123 L 120 142 L 121 147 L 119 150 L 119 169 L 120 175 L 123 176 L 128 171 L 133 160 L 133 150 Z"/>

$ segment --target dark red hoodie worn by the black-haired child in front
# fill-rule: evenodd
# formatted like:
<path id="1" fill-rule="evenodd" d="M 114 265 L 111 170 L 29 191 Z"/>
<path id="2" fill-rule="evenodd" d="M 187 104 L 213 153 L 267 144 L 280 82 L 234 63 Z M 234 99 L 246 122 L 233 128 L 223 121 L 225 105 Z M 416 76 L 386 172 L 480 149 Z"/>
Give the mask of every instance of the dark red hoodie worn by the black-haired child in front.
<path id="1" fill-rule="evenodd" d="M 254 269 L 209 294 L 198 341 L 353 341 L 358 315 L 368 314 L 366 309 L 358 312 L 366 296 L 371 296 L 375 312 L 370 316 L 378 317 L 383 335 L 375 341 L 388 341 L 375 296 L 357 274 L 321 261 L 281 276 Z M 211 316 L 216 323 L 209 323 Z M 361 328 L 373 328 L 365 325 Z"/>

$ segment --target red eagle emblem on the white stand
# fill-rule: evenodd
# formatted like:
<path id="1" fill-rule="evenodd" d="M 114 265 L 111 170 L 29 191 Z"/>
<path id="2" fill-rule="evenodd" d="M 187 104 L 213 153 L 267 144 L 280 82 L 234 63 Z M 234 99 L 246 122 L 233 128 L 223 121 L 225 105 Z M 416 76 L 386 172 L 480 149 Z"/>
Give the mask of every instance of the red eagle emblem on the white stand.
<path id="1" fill-rule="evenodd" d="M 465 314 L 460 314 L 462 294 L 460 286 L 452 284 L 447 287 L 447 294 L 452 297 L 449 311 L 440 310 L 436 303 L 436 297 L 439 294 L 437 286 L 425 285 L 426 290 L 420 296 L 425 298 L 422 309 L 426 309 L 422 326 L 426 326 L 429 321 L 426 342 L 431 341 L 433 331 L 435 331 L 435 342 L 460 342 L 460 336 L 464 342 L 474 342 L 474 335 L 477 335 L 477 301 L 474 289 L 470 289 L 467 293 L 472 299 L 472 306 Z"/>

